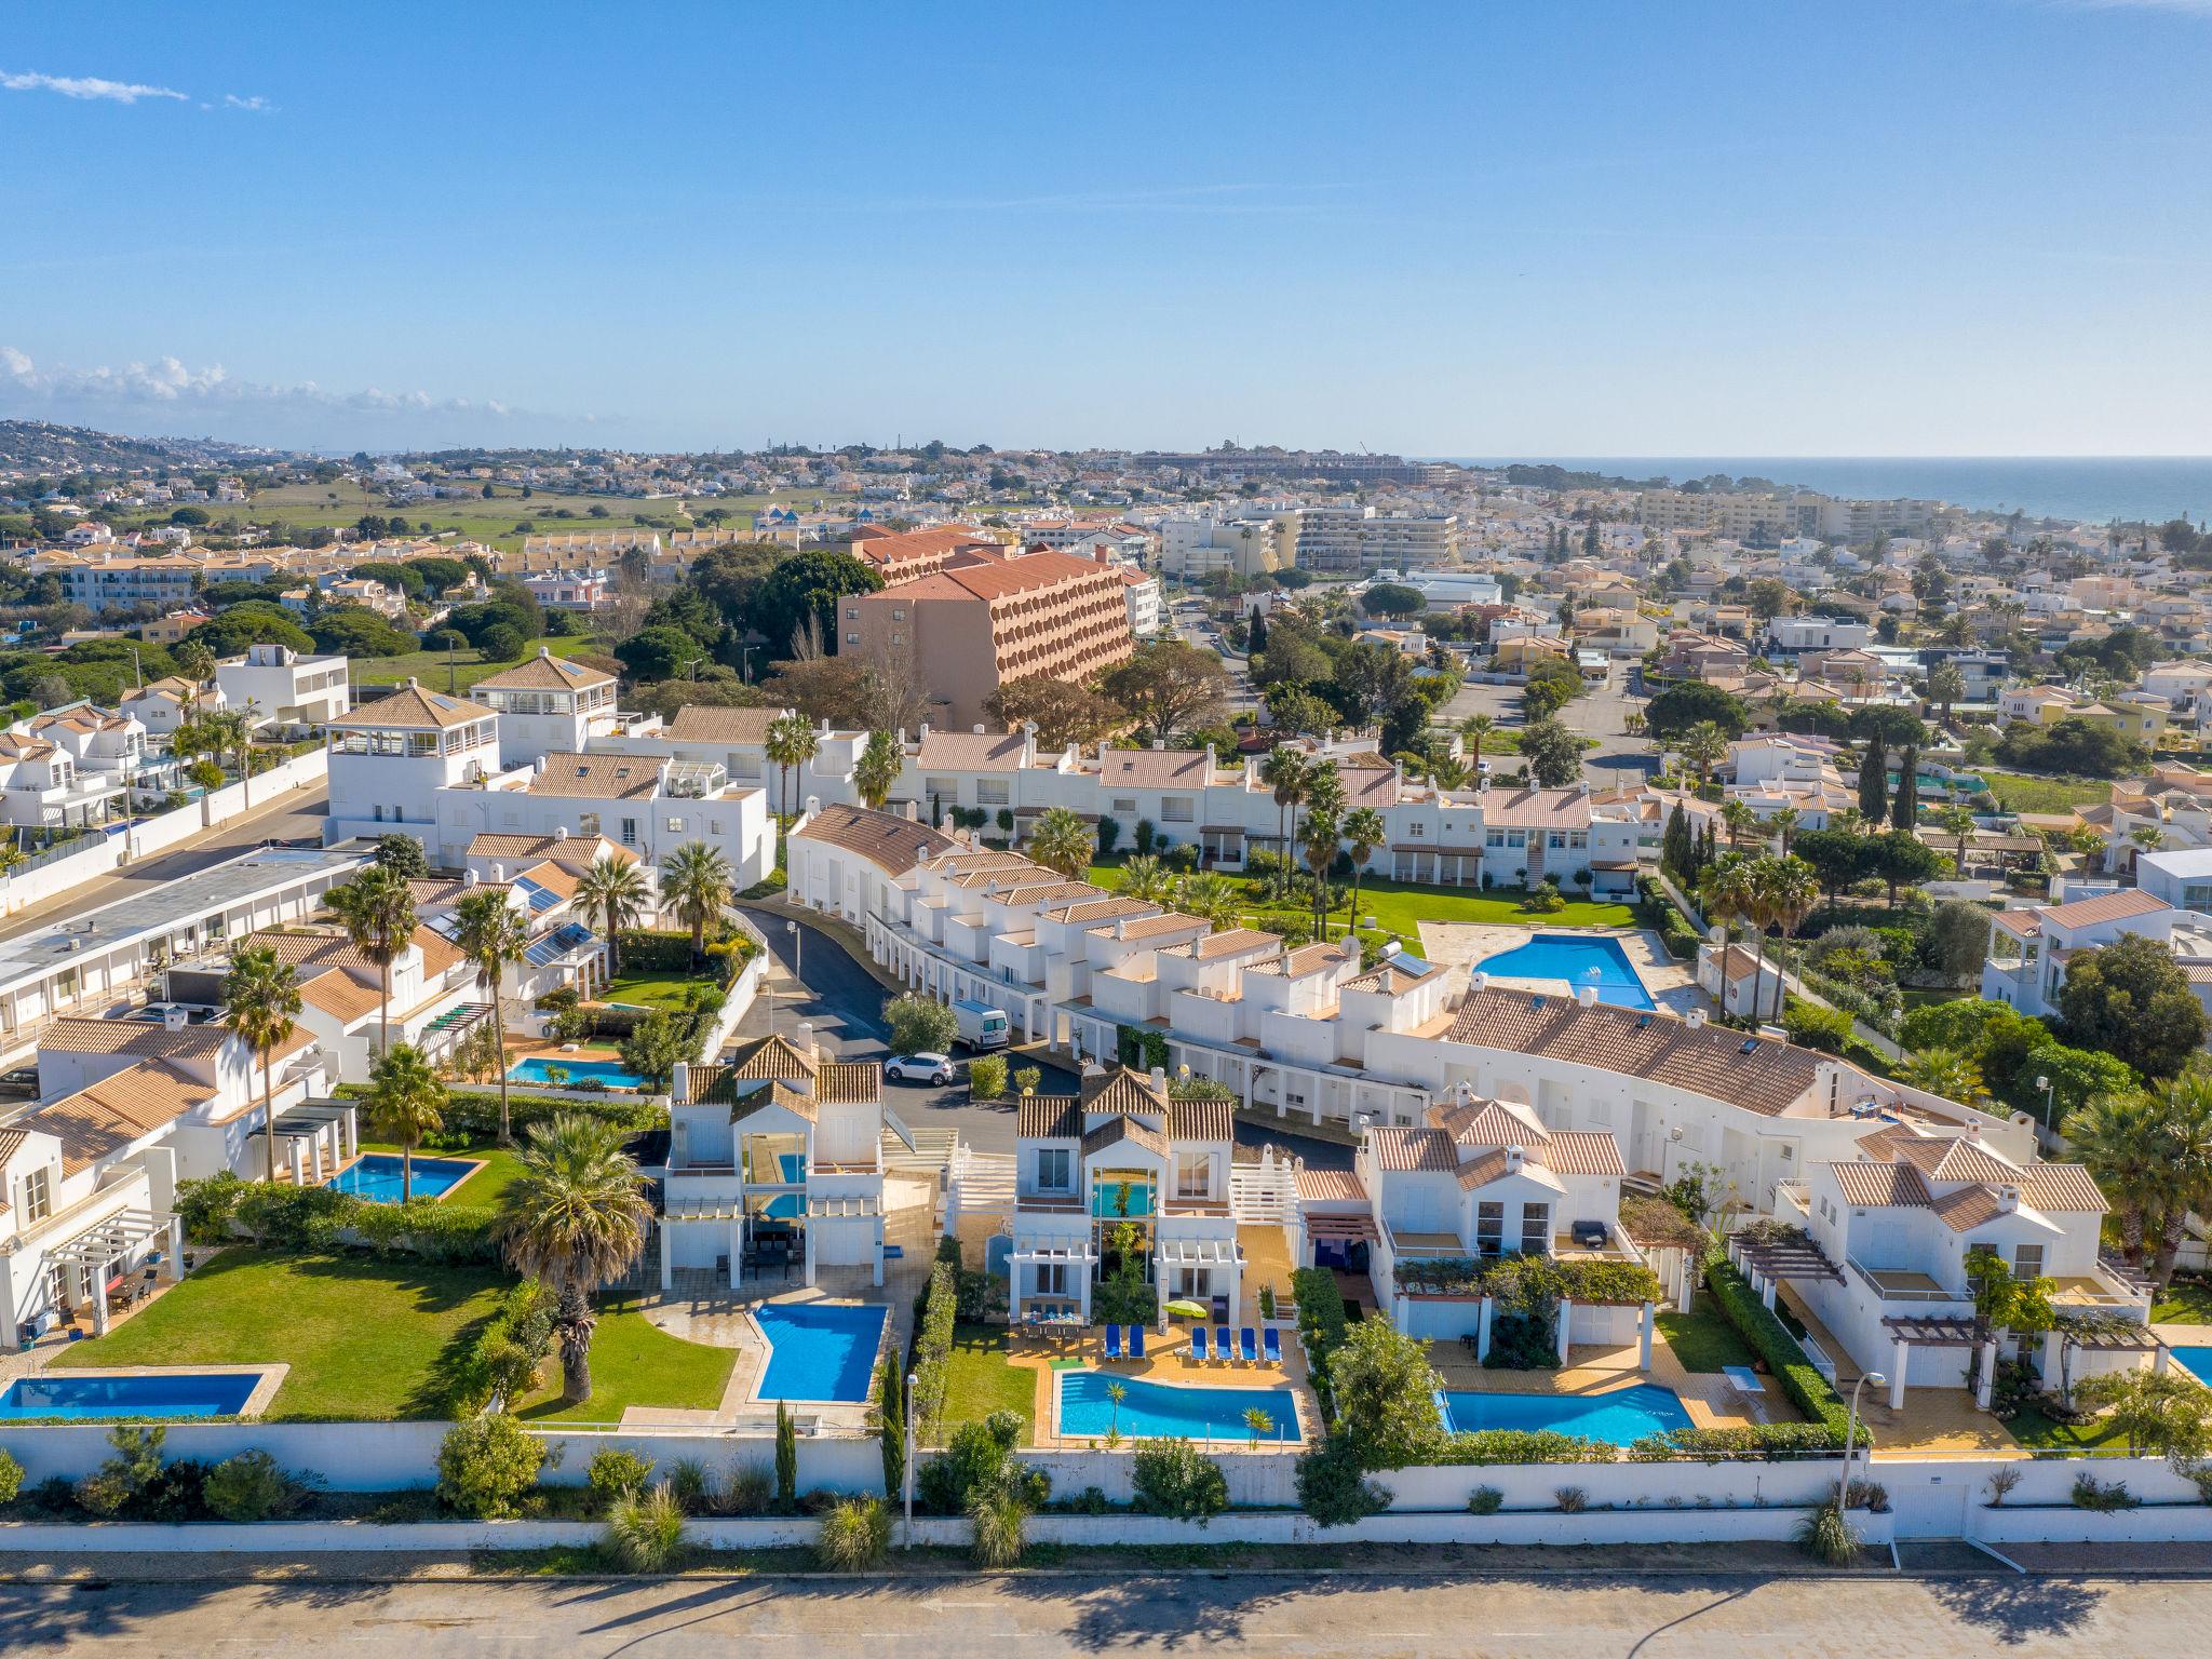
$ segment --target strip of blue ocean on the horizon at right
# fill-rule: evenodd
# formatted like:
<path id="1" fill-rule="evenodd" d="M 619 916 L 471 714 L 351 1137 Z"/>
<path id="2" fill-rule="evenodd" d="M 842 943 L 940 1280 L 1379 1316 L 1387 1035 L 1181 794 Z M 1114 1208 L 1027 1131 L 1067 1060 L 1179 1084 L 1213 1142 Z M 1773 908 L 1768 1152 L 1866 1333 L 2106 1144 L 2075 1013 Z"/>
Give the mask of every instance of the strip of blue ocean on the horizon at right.
<path id="1" fill-rule="evenodd" d="M 2084 524 L 2212 515 L 2212 456 L 1444 456 L 1462 467 L 1557 465 L 1613 478 L 1772 478 L 1858 500 L 1944 500 Z"/>

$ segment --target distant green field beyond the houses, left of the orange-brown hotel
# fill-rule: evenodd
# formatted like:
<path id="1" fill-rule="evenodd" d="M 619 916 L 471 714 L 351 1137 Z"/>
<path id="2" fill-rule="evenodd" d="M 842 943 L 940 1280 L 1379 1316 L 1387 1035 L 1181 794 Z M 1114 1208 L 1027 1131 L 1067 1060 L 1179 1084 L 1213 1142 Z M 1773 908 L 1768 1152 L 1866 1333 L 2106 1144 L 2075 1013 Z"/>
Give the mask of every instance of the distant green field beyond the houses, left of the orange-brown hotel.
<path id="1" fill-rule="evenodd" d="M 852 495 L 818 489 L 787 489 L 765 495 L 692 495 L 688 500 L 668 498 L 655 502 L 630 500 L 628 495 L 557 495 L 540 489 L 529 500 L 522 500 L 520 489 L 513 484 L 493 484 L 493 489 L 495 493 L 491 500 L 462 495 L 456 500 L 392 507 L 385 502 L 383 493 L 365 491 L 361 484 L 338 480 L 332 484 L 283 484 L 281 489 L 265 489 L 250 502 L 237 507 L 226 507 L 221 502 L 204 502 L 204 507 L 217 524 L 234 513 L 241 520 L 281 520 L 294 531 L 345 529 L 363 513 L 376 513 L 378 518 L 396 515 L 407 520 L 411 531 L 420 531 L 422 524 L 429 524 L 431 533 L 453 531 L 471 542 L 491 542 L 493 546 L 513 551 L 522 546 L 522 531 L 515 526 L 524 520 L 535 524 L 540 535 L 586 529 L 619 531 L 635 529 L 639 524 L 690 529 L 690 513 L 695 509 L 721 509 L 728 513 L 726 524 L 730 529 L 750 529 L 754 511 L 768 507 L 770 502 L 776 507 L 812 509 L 836 507 L 852 500 Z M 604 511 L 593 515 L 595 507 Z M 144 520 L 133 518 L 131 524 L 157 524 L 166 518 L 168 513 L 159 511 L 144 515 Z M 117 522 L 117 529 L 122 529 L 122 522 Z"/>

